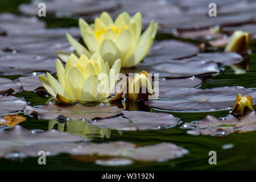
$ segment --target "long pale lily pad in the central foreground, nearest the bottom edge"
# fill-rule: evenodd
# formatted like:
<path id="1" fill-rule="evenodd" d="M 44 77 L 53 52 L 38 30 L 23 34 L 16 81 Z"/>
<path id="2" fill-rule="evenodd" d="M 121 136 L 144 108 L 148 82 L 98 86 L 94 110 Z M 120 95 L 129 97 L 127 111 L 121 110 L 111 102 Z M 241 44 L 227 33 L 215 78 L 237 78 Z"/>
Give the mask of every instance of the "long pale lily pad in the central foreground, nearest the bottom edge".
<path id="1" fill-rule="evenodd" d="M 135 144 L 128 142 L 112 142 L 90 144 L 72 150 L 72 155 L 118 156 L 146 162 L 165 162 L 166 160 L 180 158 L 187 153 L 188 150 L 172 143 L 136 147 Z"/>

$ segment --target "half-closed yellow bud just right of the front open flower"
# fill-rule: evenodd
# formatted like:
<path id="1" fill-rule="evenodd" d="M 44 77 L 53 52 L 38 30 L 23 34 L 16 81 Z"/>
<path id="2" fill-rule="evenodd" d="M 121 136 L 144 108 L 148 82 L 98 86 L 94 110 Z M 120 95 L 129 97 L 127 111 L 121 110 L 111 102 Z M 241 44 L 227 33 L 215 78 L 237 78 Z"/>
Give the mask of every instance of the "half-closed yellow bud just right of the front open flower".
<path id="1" fill-rule="evenodd" d="M 127 84 L 112 98 L 112 101 L 121 98 L 123 93 L 126 99 L 131 101 L 155 99 L 152 81 L 146 71 L 137 73 L 131 82 L 127 77 Z"/>

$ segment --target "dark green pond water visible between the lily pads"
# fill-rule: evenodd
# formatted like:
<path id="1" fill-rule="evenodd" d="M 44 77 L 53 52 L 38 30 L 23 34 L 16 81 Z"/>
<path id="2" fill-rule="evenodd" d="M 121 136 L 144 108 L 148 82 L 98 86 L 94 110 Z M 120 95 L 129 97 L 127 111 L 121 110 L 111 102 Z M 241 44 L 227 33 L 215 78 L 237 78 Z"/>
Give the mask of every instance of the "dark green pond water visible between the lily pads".
<path id="1" fill-rule="evenodd" d="M 8 1 L 0 7 L 0 12 L 10 11 L 16 12 L 17 2 Z M 71 27 L 77 26 L 77 20 L 71 18 L 46 18 L 47 27 Z M 174 38 L 168 34 L 158 34 L 156 40 Z M 194 44 L 199 42 L 191 41 Z M 214 76 L 200 77 L 203 83 L 199 86 L 202 89 L 217 88 L 221 86 L 243 86 L 245 88 L 256 88 L 256 42 L 250 43 L 251 55 L 249 56 L 249 69 L 243 75 L 235 75 L 232 68 L 225 66 L 222 71 Z M 1 76 L 14 80 L 19 75 Z M 15 94 L 16 97 L 24 97 L 31 106 L 44 105 L 48 98 L 39 97 L 34 92 L 23 91 Z M 125 102 L 122 102 L 125 105 Z M 148 107 L 140 107 L 140 110 L 148 110 Z M 175 112 L 160 109 L 150 109 L 151 112 L 170 113 L 180 118 L 183 122 L 199 121 L 207 115 L 214 115 L 217 118 L 228 115 L 228 110 L 212 111 L 212 112 Z M 23 113 L 20 113 L 27 117 Z M 35 121 L 31 117 L 27 117 L 25 122 L 19 124 L 28 130 L 48 130 L 51 121 L 39 119 Z M 53 129 L 62 130 L 63 126 L 56 125 Z M 180 126 L 171 127 L 164 130 L 139 130 L 139 131 L 122 131 L 107 130 L 98 132 L 96 126 L 92 126 L 91 131 L 84 137 L 89 137 L 92 143 L 104 143 L 115 141 L 126 141 L 137 145 L 152 145 L 161 142 L 171 142 L 177 146 L 186 148 L 189 153 L 178 159 L 168 160 L 167 162 L 135 162 L 127 166 L 101 166 L 94 160 L 76 158 L 68 154 L 60 154 L 47 157 L 47 165 L 38 165 L 38 158 L 23 158 L 19 160 L 0 159 L 1 170 L 231 170 L 256 169 L 256 131 L 248 133 L 234 133 L 225 137 L 217 138 L 206 135 L 189 135 L 187 130 L 180 129 Z M 64 131 L 67 131 L 64 126 Z M 76 131 L 70 133 L 77 134 Z M 102 136 L 105 136 L 102 138 Z M 226 148 L 225 146 L 232 146 Z M 1 147 L 1 146 L 0 146 Z M 217 165 L 209 165 L 209 151 L 217 152 Z"/>

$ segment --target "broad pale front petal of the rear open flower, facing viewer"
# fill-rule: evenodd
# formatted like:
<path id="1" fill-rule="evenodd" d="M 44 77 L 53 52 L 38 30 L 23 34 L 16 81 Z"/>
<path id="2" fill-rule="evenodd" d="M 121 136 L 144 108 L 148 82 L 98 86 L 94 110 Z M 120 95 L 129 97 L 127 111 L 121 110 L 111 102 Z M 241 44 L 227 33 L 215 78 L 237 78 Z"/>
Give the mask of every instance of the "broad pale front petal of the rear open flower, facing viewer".
<path id="1" fill-rule="evenodd" d="M 114 61 L 121 58 L 121 53 L 115 43 L 106 39 L 102 42 L 100 53 L 105 61 L 109 62 L 109 65 L 112 66 Z"/>

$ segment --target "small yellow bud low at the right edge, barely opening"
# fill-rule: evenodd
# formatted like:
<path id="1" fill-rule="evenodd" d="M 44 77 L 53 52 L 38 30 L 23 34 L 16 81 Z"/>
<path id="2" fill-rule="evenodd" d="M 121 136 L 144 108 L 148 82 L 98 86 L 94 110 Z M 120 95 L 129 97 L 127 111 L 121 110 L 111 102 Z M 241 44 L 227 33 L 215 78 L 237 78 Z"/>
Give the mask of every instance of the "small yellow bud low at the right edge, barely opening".
<path id="1" fill-rule="evenodd" d="M 231 113 L 235 115 L 243 115 L 251 110 L 254 110 L 251 96 L 242 97 L 241 94 L 238 94 Z"/>

